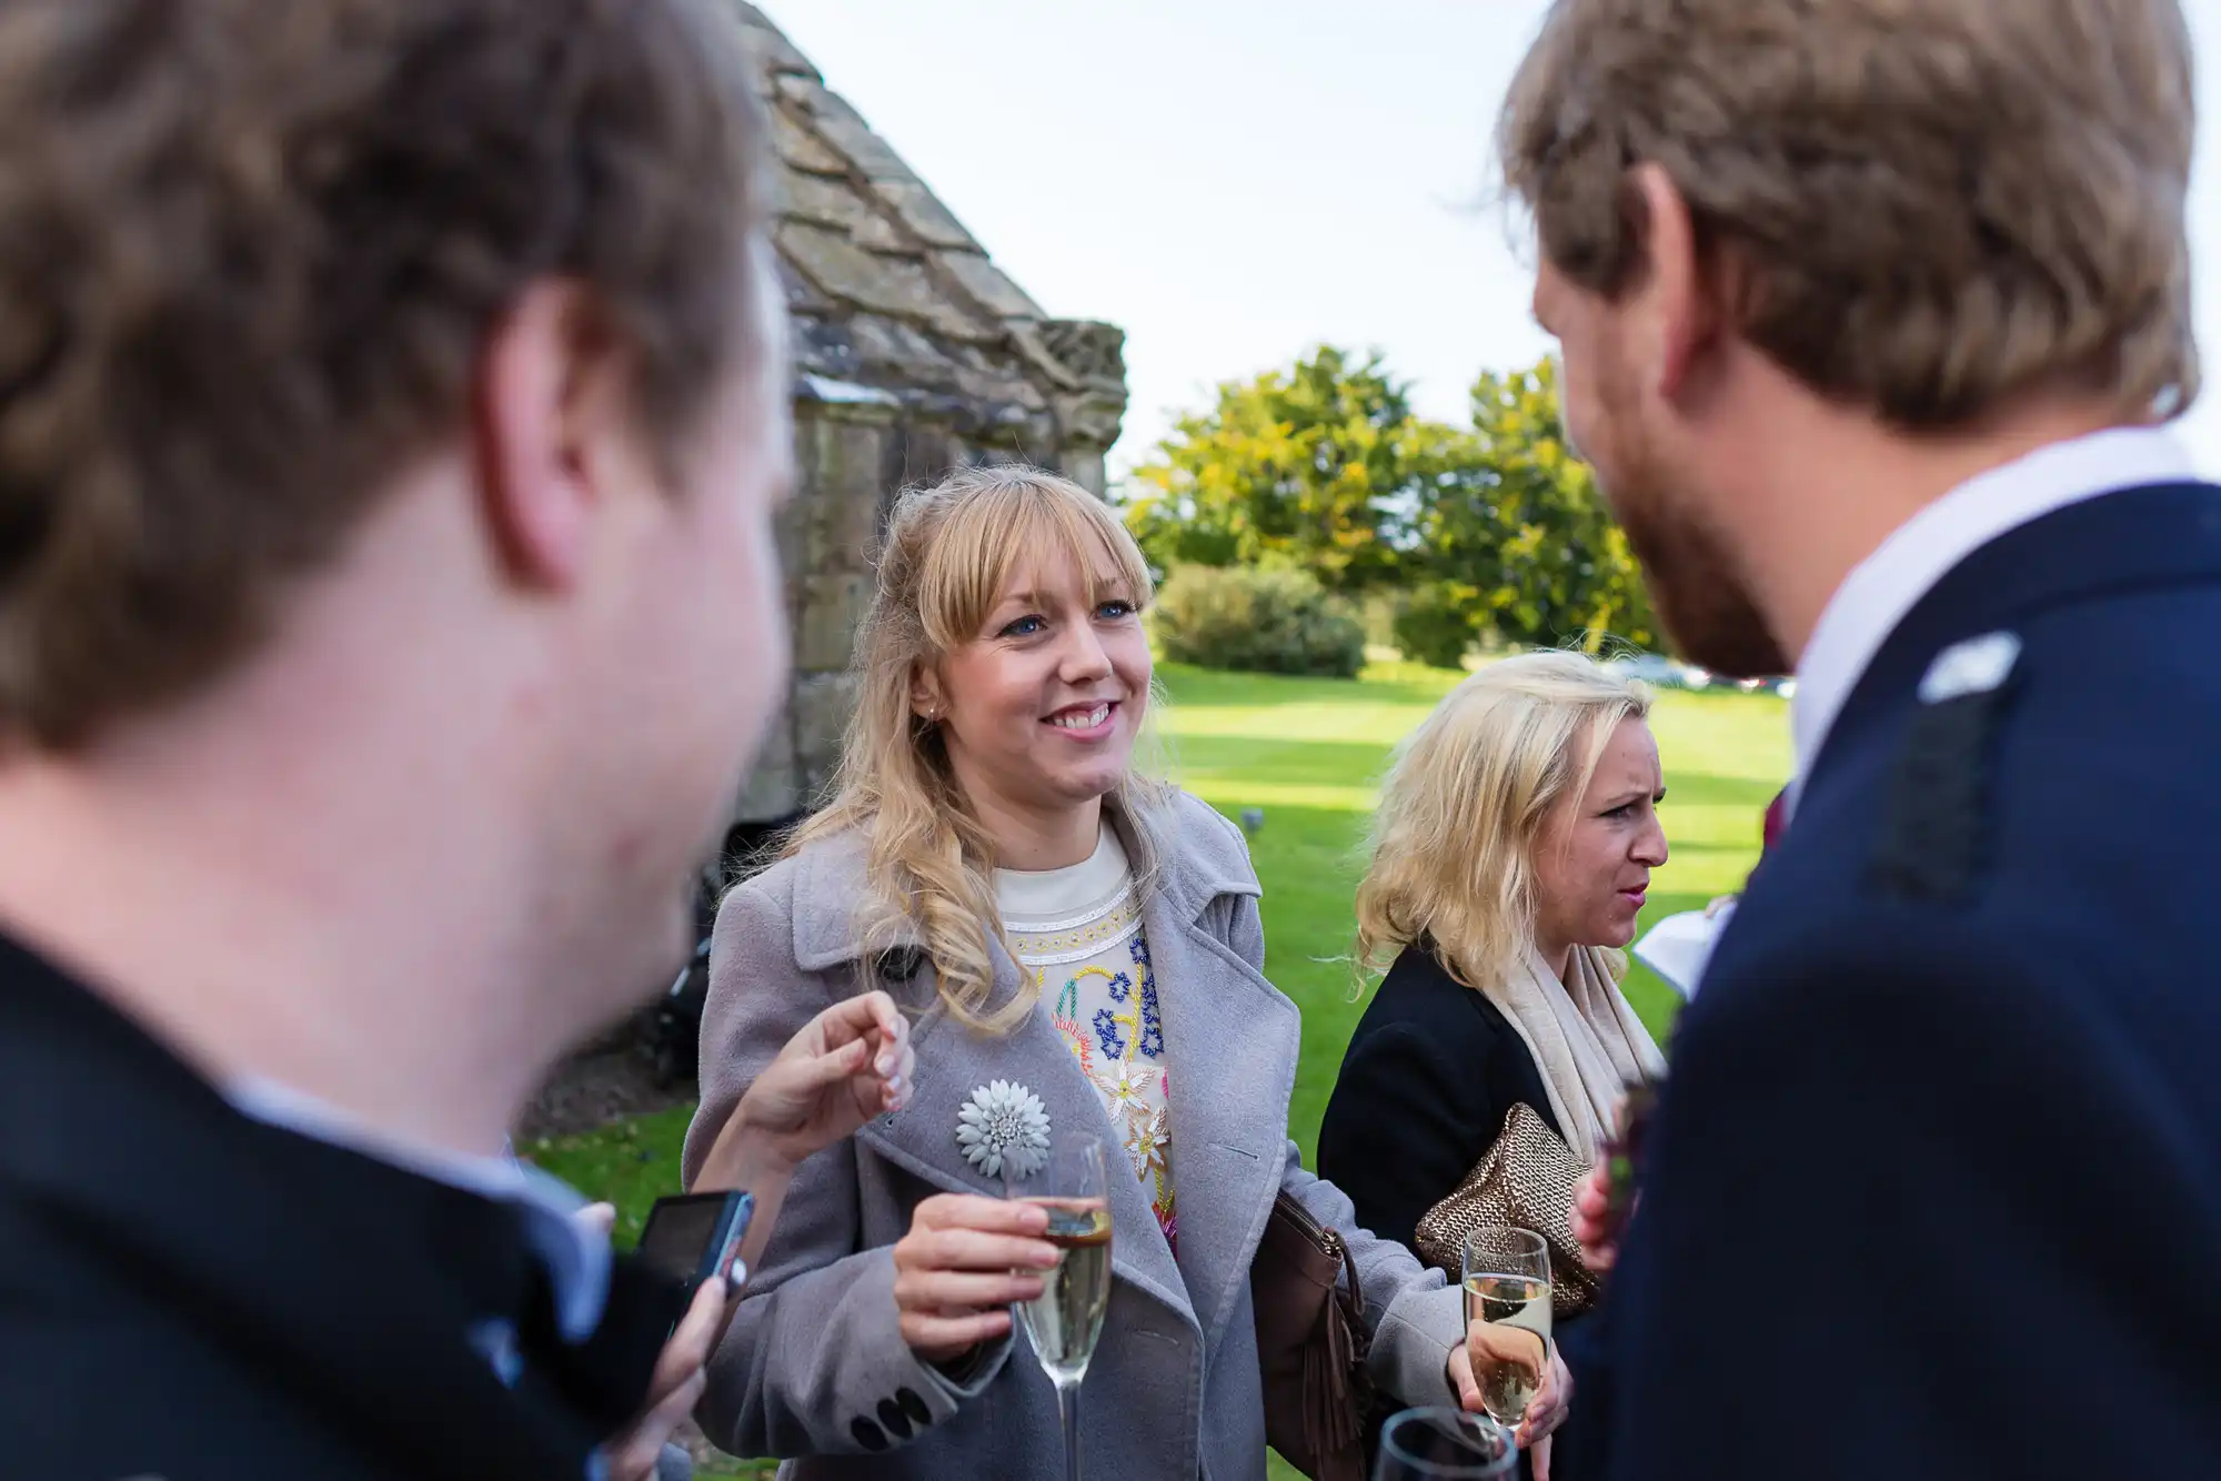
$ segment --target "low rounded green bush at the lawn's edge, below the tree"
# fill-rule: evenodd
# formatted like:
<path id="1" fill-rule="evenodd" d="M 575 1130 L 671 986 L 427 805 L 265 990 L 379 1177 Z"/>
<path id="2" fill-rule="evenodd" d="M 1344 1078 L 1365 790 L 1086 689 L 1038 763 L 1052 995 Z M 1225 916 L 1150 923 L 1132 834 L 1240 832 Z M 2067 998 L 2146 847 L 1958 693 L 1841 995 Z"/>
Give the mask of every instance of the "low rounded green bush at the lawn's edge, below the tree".
<path id="1" fill-rule="evenodd" d="M 1179 566 L 1153 622 L 1179 664 L 1337 679 L 1366 666 L 1364 624 L 1304 571 Z"/>

